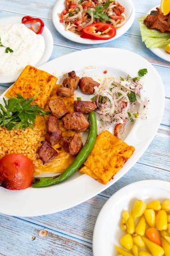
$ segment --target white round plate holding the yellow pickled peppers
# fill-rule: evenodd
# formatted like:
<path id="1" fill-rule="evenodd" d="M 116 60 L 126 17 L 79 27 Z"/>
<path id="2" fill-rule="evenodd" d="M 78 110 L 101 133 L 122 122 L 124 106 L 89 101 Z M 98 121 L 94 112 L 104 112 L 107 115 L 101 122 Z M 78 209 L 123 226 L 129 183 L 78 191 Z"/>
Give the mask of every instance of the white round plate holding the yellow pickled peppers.
<path id="1" fill-rule="evenodd" d="M 153 200 L 170 199 L 170 182 L 143 180 L 134 182 L 113 194 L 102 207 L 93 232 L 93 256 L 117 255 L 115 245 L 124 234 L 120 229 L 121 214 L 130 211 L 136 200 L 147 204 Z"/>

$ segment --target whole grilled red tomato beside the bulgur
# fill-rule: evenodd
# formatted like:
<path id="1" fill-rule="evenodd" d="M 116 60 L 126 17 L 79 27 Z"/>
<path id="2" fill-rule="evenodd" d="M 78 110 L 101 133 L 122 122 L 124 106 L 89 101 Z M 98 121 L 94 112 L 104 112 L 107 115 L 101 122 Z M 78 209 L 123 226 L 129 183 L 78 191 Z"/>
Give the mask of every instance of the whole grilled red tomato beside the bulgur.
<path id="1" fill-rule="evenodd" d="M 22 154 L 5 155 L 0 159 L 0 186 L 10 190 L 31 186 L 34 164 Z"/>

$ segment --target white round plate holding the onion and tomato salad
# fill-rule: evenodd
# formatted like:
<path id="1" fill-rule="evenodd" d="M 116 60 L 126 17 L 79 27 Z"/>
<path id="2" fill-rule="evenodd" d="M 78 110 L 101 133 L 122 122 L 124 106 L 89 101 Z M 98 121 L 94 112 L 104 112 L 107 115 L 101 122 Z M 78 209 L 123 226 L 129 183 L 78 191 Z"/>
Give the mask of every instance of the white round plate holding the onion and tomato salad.
<path id="1" fill-rule="evenodd" d="M 106 43 L 112 40 L 115 40 L 119 36 L 123 35 L 132 25 L 134 19 L 135 19 L 135 7 L 131 0 L 119 0 L 119 3 L 125 7 L 125 14 L 126 14 L 126 23 L 122 25 L 119 29 L 117 29 L 117 34 L 115 37 L 110 38 L 108 40 L 91 40 L 86 38 L 81 38 L 79 35 L 71 32 L 66 31 L 64 24 L 60 23 L 60 18 L 58 16 L 58 13 L 61 13 L 63 11 L 64 7 L 64 0 L 58 0 L 53 8 L 52 13 L 52 20 L 55 28 L 57 31 L 64 36 L 65 38 L 74 41 L 76 43 L 82 43 L 82 44 L 88 44 L 88 45 L 94 45 L 99 43 Z"/>

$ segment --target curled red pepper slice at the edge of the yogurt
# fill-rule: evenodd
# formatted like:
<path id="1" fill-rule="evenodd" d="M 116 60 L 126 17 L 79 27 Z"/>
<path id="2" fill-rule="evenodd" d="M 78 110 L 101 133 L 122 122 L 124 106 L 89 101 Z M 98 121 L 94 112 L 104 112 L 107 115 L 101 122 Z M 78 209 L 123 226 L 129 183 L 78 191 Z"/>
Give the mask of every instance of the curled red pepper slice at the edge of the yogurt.
<path id="1" fill-rule="evenodd" d="M 33 18 L 31 16 L 24 16 L 22 23 L 29 29 L 32 29 L 36 34 L 41 34 L 44 29 L 44 22 L 39 18 Z"/>

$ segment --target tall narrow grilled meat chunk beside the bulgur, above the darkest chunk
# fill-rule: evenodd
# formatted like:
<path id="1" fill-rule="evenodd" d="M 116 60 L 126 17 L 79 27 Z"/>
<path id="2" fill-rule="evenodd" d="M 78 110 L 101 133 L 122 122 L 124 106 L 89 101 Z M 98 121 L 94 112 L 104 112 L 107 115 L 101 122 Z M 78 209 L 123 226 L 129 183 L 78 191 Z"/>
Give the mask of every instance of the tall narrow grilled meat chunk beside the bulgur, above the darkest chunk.
<path id="1" fill-rule="evenodd" d="M 62 131 L 59 128 L 58 120 L 55 116 L 49 117 L 46 123 L 46 131 L 45 140 L 48 141 L 51 146 L 57 144 L 62 137 Z"/>

